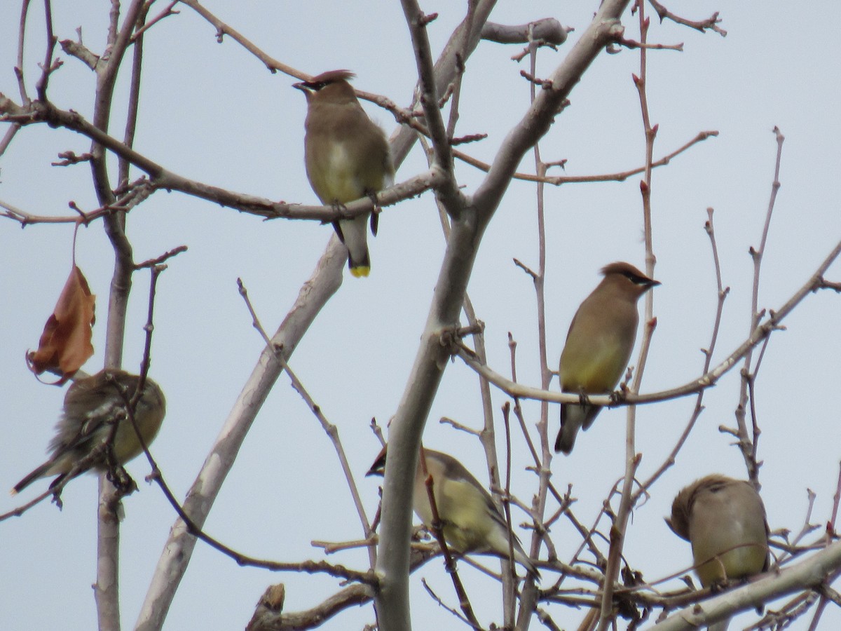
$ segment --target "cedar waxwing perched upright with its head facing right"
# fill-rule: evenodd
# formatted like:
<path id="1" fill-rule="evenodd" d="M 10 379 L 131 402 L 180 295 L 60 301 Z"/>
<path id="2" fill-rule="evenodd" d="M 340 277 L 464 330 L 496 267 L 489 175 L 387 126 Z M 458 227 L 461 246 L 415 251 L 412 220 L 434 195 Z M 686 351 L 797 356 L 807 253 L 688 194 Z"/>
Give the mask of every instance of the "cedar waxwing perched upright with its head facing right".
<path id="1" fill-rule="evenodd" d="M 605 278 L 584 299 L 569 325 L 558 369 L 562 392 L 607 395 L 616 388 L 637 339 L 637 300 L 659 285 L 627 262 L 613 262 L 601 273 Z M 590 427 L 600 410 L 600 406 L 562 403 L 555 451 L 570 453 L 579 427 Z"/>

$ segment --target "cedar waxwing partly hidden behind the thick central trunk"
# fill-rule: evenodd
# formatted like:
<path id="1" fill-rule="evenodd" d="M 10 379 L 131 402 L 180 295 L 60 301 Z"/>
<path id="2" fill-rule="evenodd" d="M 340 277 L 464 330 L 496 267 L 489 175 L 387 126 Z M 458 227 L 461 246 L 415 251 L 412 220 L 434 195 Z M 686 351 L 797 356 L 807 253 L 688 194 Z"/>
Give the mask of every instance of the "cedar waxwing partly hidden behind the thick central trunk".
<path id="1" fill-rule="evenodd" d="M 459 554 L 496 554 L 508 558 L 508 523 L 496 507 L 484 486 L 464 465 L 447 453 L 422 449 L 426 454 L 426 471 L 432 476 L 432 489 L 438 517 L 441 518 L 444 538 Z M 385 473 L 386 448 L 383 447 L 366 475 Z M 423 462 L 419 460 L 412 492 L 412 507 L 426 528 L 432 528 L 432 506 L 426 490 Z M 540 577 L 532 559 L 513 535 L 514 559 L 532 575 Z"/>

